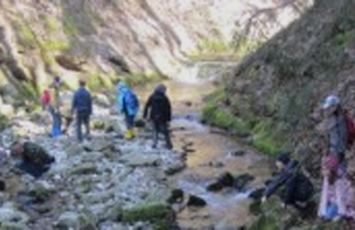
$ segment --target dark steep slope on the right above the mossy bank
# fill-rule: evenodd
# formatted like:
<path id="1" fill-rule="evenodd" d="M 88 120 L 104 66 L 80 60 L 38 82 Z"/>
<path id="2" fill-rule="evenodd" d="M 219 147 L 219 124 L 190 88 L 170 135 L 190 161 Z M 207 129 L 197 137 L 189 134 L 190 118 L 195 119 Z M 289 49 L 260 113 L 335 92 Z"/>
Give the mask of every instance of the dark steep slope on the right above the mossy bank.
<path id="1" fill-rule="evenodd" d="M 226 79 L 231 103 L 223 107 L 247 121 L 252 132 L 267 130 L 268 138 L 319 156 L 325 147 L 325 130 L 318 129 L 322 99 L 337 93 L 355 110 L 354 13 L 355 1 L 315 1 Z"/>

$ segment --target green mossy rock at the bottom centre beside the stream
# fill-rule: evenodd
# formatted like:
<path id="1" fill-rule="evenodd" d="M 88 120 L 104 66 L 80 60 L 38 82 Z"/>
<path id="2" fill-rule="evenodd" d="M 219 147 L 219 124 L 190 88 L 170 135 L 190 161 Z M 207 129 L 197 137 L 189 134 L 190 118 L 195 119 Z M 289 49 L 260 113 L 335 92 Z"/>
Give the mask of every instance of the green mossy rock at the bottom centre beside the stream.
<path id="1" fill-rule="evenodd" d="M 135 222 L 150 222 L 154 229 L 168 230 L 174 225 L 175 212 L 168 205 L 151 204 L 125 210 L 122 222 L 133 224 Z"/>

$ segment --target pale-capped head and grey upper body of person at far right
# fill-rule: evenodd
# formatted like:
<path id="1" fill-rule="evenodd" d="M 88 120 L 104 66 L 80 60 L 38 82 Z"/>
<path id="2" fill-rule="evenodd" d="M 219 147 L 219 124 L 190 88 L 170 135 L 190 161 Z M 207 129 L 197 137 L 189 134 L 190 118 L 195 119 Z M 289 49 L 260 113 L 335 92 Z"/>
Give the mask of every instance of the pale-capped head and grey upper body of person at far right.
<path id="1" fill-rule="evenodd" d="M 338 167 L 344 165 L 345 151 L 347 150 L 348 130 L 347 119 L 344 109 L 340 104 L 337 95 L 330 95 L 325 98 L 322 109 L 326 114 L 330 114 L 329 135 L 329 155 L 336 161 Z"/>

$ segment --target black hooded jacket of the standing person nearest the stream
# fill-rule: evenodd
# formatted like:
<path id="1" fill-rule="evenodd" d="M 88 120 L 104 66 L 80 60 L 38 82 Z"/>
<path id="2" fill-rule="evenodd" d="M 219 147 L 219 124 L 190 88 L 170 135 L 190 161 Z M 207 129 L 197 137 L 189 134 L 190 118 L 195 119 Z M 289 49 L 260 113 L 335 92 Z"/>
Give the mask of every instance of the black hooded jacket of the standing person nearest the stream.
<path id="1" fill-rule="evenodd" d="M 165 87 L 157 87 L 146 102 L 144 119 L 165 123 L 171 121 L 171 104 L 165 95 Z"/>

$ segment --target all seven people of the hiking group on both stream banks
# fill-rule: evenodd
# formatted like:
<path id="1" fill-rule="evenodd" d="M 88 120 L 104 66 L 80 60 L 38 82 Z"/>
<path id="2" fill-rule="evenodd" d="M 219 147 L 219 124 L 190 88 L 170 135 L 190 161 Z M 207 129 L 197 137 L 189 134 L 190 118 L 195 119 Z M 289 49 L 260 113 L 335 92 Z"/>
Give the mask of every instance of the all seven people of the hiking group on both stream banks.
<path id="1" fill-rule="evenodd" d="M 76 138 L 82 142 L 84 138 L 91 138 L 90 120 L 93 114 L 93 100 L 91 93 L 86 89 L 85 80 L 79 80 L 79 87 L 71 102 L 69 114 L 63 115 L 60 108 L 62 102 L 59 98 L 59 89 L 62 81 L 54 78 L 53 83 L 42 95 L 43 109 L 52 117 L 52 136 L 56 137 L 67 133 L 73 117 L 76 118 Z M 117 109 L 124 116 L 127 131 L 125 138 L 132 140 L 136 136 L 134 131 L 135 118 L 139 113 L 139 99 L 135 92 L 123 82 L 117 83 Z M 170 138 L 169 124 L 171 121 L 170 100 L 166 96 L 166 87 L 158 85 L 146 100 L 143 118 L 151 123 L 153 128 L 152 147 L 158 146 L 158 135 L 162 133 L 165 138 L 165 147 L 173 148 Z M 349 164 L 354 161 L 351 147 L 355 140 L 355 125 L 348 112 L 342 108 L 339 97 L 330 95 L 322 104 L 322 111 L 327 121 L 325 140 L 327 154 L 322 157 L 322 188 L 318 207 L 318 217 L 337 221 L 339 219 L 355 219 L 355 186 L 354 168 Z M 65 119 L 62 128 L 62 118 Z M 81 126 L 85 126 L 85 135 Z M 50 169 L 55 162 L 54 157 L 35 143 L 16 142 L 11 147 L 11 155 L 22 162 L 18 168 L 35 176 L 41 176 Z M 266 202 L 270 196 L 277 193 L 284 207 L 291 205 L 301 212 L 308 210 L 315 200 L 315 186 L 302 171 L 303 161 L 298 162 L 291 158 L 289 153 L 282 153 L 276 159 L 278 173 L 267 183 L 261 201 Z M 281 188 L 281 189 L 279 189 Z M 314 206 L 314 205 L 313 205 Z"/>

